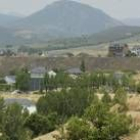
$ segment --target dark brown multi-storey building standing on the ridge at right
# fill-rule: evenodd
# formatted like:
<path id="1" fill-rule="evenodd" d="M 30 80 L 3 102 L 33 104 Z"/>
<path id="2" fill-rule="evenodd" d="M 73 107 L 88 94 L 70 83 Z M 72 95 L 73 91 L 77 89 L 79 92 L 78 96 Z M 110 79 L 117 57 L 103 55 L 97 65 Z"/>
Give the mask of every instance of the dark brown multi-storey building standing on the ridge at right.
<path id="1" fill-rule="evenodd" d="M 109 46 L 108 55 L 114 57 L 125 57 L 129 51 L 127 44 L 111 44 Z"/>

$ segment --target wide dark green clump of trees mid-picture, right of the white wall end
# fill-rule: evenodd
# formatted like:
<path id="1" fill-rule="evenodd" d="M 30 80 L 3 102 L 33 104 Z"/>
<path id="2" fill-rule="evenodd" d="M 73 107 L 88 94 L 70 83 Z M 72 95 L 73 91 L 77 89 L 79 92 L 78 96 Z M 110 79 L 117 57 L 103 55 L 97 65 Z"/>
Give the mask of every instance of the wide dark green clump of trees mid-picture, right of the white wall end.
<path id="1" fill-rule="evenodd" d="M 56 112 L 61 118 L 82 115 L 93 98 L 93 93 L 87 89 L 73 88 L 60 92 L 52 91 L 39 99 L 37 109 L 41 114 Z"/>

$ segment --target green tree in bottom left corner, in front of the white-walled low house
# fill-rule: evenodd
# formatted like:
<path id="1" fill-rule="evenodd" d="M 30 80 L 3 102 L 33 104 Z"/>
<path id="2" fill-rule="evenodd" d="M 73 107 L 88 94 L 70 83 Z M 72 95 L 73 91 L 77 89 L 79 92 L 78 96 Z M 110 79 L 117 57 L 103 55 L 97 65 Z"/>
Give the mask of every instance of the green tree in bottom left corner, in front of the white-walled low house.
<path id="1" fill-rule="evenodd" d="M 4 111 L 2 136 L 7 140 L 30 140 L 30 132 L 24 127 L 27 116 L 18 104 L 12 104 Z"/>

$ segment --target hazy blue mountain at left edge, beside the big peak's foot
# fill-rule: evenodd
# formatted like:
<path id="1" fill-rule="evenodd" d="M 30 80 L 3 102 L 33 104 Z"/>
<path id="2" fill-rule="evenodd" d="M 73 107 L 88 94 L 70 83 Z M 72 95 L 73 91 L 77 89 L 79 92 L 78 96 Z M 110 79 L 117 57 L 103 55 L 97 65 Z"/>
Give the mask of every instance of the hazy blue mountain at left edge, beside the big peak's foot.
<path id="1" fill-rule="evenodd" d="M 21 18 L 18 16 L 8 15 L 8 14 L 0 14 L 0 26 L 9 26 L 9 24 L 20 20 Z"/>

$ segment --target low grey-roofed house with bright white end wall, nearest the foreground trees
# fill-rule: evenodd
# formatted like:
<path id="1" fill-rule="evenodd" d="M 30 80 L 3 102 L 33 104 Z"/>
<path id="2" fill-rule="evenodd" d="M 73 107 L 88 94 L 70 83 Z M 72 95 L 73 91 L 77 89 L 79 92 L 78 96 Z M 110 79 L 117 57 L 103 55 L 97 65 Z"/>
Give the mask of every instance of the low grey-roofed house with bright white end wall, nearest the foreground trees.
<path id="1" fill-rule="evenodd" d="M 29 114 L 35 113 L 37 111 L 36 105 L 28 99 L 8 98 L 4 101 L 6 106 L 9 106 L 13 103 L 21 105 L 23 109 L 27 109 L 29 111 Z"/>

